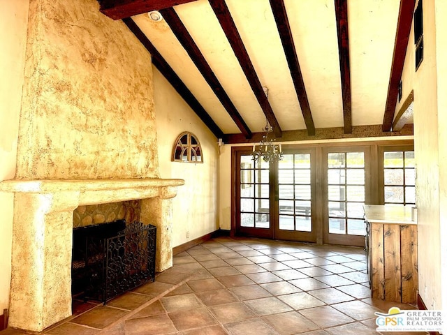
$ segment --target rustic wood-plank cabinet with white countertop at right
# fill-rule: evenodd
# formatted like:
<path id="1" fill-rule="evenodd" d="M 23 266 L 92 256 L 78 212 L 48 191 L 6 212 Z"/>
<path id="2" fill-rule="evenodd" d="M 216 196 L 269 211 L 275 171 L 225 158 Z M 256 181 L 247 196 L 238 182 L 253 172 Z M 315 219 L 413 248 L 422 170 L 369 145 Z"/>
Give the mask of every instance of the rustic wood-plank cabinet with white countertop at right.
<path id="1" fill-rule="evenodd" d="M 417 224 L 410 211 L 402 218 L 374 216 L 373 205 L 365 205 L 367 260 L 371 295 L 375 299 L 416 304 L 418 290 Z M 369 207 L 369 208 L 368 208 Z M 374 206 L 376 207 L 376 206 Z M 391 208 L 390 210 L 398 210 Z M 397 219 L 396 219 L 397 217 Z"/>

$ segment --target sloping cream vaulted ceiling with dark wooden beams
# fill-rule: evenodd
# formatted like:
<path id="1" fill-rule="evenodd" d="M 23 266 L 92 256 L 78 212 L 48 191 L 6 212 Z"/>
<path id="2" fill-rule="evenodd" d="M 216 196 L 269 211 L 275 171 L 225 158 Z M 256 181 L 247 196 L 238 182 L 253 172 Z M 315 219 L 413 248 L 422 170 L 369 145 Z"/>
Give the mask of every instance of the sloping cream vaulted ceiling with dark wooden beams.
<path id="1" fill-rule="evenodd" d="M 414 0 L 98 1 L 225 142 L 266 120 L 281 140 L 412 122 L 395 108 Z"/>

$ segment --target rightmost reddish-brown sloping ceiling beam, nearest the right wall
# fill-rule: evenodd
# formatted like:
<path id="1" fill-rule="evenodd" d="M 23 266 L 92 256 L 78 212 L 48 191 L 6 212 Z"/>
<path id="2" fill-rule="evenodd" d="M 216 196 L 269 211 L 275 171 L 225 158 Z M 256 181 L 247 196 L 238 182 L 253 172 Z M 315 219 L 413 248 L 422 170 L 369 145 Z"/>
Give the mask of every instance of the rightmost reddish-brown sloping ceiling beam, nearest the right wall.
<path id="1" fill-rule="evenodd" d="M 396 110 L 397 94 L 400 78 L 404 70 L 406 46 L 410 38 L 411 22 L 416 0 L 400 0 L 399 19 L 397 20 L 396 37 L 394 43 L 393 62 L 391 63 L 390 81 L 386 97 L 385 112 L 383 114 L 382 131 L 391 131 L 393 117 Z"/>

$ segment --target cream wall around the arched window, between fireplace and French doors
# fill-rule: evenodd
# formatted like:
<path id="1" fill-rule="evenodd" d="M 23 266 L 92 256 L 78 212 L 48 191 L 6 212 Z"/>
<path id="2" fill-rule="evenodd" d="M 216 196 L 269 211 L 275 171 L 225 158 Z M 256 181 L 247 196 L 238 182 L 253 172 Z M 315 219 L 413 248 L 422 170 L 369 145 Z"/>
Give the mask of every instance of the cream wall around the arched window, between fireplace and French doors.
<path id="1" fill-rule="evenodd" d="M 154 101 L 161 178 L 184 179 L 173 198 L 173 246 L 202 237 L 219 228 L 219 154 L 217 138 L 154 68 Z M 203 163 L 172 162 L 175 140 L 184 131 L 196 135 Z M 226 183 L 229 183 L 226 181 Z M 189 232 L 189 237 L 186 237 Z"/>

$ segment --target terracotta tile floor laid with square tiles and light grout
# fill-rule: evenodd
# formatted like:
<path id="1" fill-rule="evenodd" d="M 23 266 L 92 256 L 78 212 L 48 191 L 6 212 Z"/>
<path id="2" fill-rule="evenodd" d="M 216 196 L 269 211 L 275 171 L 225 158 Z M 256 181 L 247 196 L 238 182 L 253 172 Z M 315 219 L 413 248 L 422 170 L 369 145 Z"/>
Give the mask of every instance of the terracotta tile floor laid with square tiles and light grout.
<path id="1" fill-rule="evenodd" d="M 105 306 L 75 301 L 40 334 L 379 334 L 374 312 L 415 307 L 371 299 L 366 268 L 362 248 L 219 237 Z"/>

